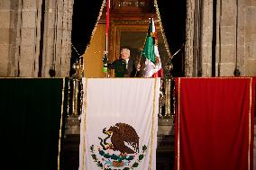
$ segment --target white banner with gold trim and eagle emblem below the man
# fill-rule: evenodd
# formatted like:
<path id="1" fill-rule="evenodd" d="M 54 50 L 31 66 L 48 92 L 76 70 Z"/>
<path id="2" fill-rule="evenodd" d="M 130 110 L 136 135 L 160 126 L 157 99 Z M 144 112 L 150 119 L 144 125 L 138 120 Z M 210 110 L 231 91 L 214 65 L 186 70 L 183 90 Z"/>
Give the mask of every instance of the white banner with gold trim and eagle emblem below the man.
<path id="1" fill-rule="evenodd" d="M 156 169 L 160 78 L 83 79 L 79 170 Z"/>

